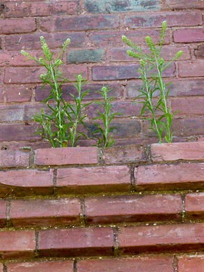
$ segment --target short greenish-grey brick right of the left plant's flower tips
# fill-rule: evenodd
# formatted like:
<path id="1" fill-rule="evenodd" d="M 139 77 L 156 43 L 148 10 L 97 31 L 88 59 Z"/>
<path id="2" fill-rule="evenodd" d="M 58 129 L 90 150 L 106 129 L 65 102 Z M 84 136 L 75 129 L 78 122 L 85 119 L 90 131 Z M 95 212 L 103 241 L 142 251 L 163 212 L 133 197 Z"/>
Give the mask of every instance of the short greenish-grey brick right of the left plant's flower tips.
<path id="1" fill-rule="evenodd" d="M 89 63 L 104 61 L 105 50 L 85 49 L 72 50 L 67 53 L 68 63 Z"/>

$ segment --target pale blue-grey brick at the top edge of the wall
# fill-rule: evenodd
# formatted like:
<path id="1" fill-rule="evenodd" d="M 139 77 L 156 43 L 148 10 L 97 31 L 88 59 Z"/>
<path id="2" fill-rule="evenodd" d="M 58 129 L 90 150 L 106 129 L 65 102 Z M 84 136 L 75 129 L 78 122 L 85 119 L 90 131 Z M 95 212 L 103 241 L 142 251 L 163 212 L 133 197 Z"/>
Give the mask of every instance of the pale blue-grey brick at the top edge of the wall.
<path id="1" fill-rule="evenodd" d="M 125 0 L 123 3 L 119 0 L 86 0 L 85 8 L 88 13 L 124 13 L 128 11 L 160 10 L 158 0 L 150 2 L 139 0 Z"/>

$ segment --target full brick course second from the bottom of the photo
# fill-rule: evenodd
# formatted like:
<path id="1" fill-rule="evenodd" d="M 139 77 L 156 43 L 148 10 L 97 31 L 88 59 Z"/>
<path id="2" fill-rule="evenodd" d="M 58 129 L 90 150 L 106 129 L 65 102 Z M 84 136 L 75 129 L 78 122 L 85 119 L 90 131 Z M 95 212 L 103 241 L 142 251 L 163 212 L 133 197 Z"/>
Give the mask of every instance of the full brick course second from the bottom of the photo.
<path id="1" fill-rule="evenodd" d="M 1 259 L 94 257 L 203 250 L 203 223 L 0 232 Z"/>

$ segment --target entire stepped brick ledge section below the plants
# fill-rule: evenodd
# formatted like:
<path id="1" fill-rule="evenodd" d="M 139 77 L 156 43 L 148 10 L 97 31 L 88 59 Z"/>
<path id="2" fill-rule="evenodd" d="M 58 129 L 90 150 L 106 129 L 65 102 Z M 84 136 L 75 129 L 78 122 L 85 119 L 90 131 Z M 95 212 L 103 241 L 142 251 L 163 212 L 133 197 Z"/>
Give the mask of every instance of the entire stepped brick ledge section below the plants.
<path id="1" fill-rule="evenodd" d="M 203 272 L 204 142 L 0 151 L 1 272 Z"/>

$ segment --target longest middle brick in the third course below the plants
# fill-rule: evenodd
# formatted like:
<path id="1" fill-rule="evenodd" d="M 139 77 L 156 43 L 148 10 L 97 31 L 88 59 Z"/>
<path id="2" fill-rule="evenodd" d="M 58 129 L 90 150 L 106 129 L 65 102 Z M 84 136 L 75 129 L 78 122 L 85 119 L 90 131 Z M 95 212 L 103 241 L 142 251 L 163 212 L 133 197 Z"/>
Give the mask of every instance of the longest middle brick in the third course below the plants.
<path id="1" fill-rule="evenodd" d="M 85 199 L 87 224 L 179 220 L 180 195 L 134 195 Z"/>

